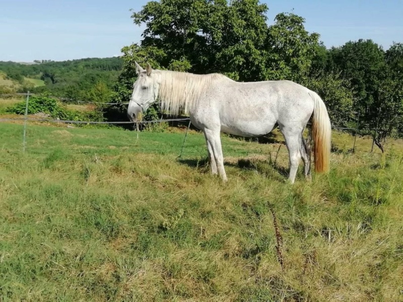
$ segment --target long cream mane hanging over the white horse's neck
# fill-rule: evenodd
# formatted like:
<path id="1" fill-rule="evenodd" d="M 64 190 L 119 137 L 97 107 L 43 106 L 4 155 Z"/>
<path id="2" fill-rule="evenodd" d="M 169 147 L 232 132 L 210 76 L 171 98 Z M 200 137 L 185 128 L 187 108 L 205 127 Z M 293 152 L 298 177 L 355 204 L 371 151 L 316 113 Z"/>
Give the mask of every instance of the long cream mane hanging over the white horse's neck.
<path id="1" fill-rule="evenodd" d="M 170 70 L 154 70 L 154 72 L 159 73 L 161 77 L 158 93 L 161 109 L 174 116 L 182 112 L 188 114 L 212 81 L 226 78 L 219 73 L 195 74 Z"/>

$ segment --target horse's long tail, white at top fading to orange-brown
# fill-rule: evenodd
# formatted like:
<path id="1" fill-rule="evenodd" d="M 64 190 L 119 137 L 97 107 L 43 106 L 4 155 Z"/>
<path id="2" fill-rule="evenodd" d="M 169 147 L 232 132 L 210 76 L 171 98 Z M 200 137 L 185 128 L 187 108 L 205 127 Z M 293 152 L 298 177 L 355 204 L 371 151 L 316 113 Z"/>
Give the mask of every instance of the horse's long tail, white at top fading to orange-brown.
<path id="1" fill-rule="evenodd" d="M 309 91 L 314 101 L 312 136 L 314 141 L 314 165 L 316 172 L 327 172 L 330 166 L 331 125 L 326 106 L 317 93 Z"/>

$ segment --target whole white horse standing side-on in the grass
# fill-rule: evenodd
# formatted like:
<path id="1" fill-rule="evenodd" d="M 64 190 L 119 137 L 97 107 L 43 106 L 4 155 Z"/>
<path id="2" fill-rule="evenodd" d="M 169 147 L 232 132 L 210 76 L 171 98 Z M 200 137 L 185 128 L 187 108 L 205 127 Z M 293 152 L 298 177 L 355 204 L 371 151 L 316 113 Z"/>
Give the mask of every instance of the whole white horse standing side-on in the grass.
<path id="1" fill-rule="evenodd" d="M 305 176 L 310 175 L 310 159 L 303 130 L 312 113 L 314 167 L 316 172 L 329 170 L 331 125 L 326 107 L 313 91 L 291 81 L 240 83 L 218 73 L 193 74 L 146 69 L 136 62 L 138 79 L 127 107 L 133 122 L 157 98 L 168 114 L 189 115 L 191 123 L 206 137 L 213 174 L 224 181 L 224 157 L 220 132 L 256 137 L 279 126 L 289 152 L 289 180 L 294 183 L 302 158 Z"/>

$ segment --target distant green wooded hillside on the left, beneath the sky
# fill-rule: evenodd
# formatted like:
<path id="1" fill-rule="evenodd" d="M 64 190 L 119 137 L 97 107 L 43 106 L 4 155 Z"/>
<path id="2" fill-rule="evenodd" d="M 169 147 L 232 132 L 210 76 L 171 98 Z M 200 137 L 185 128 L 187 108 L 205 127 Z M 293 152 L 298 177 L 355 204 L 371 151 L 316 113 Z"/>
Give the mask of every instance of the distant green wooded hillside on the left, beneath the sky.
<path id="1" fill-rule="evenodd" d="M 2 89 L 16 92 L 30 89 L 34 93 L 49 92 L 75 99 L 88 99 L 90 92 L 92 98 L 106 98 L 122 66 L 120 57 L 32 63 L 0 61 L 0 72 L 3 73 L 0 93 Z"/>

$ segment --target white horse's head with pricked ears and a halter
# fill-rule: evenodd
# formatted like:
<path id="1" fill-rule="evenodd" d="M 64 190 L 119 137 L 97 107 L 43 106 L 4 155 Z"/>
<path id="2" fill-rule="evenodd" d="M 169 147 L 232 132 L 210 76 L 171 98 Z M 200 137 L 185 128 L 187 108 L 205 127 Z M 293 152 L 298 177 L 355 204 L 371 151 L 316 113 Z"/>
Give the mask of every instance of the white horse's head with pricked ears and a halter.
<path id="1" fill-rule="evenodd" d="M 144 69 L 136 62 L 136 73 L 138 78 L 133 84 L 133 92 L 127 107 L 127 116 L 133 122 L 136 122 L 139 114 L 146 111 L 157 100 L 159 87 L 155 81 L 155 72 L 149 63 Z"/>

